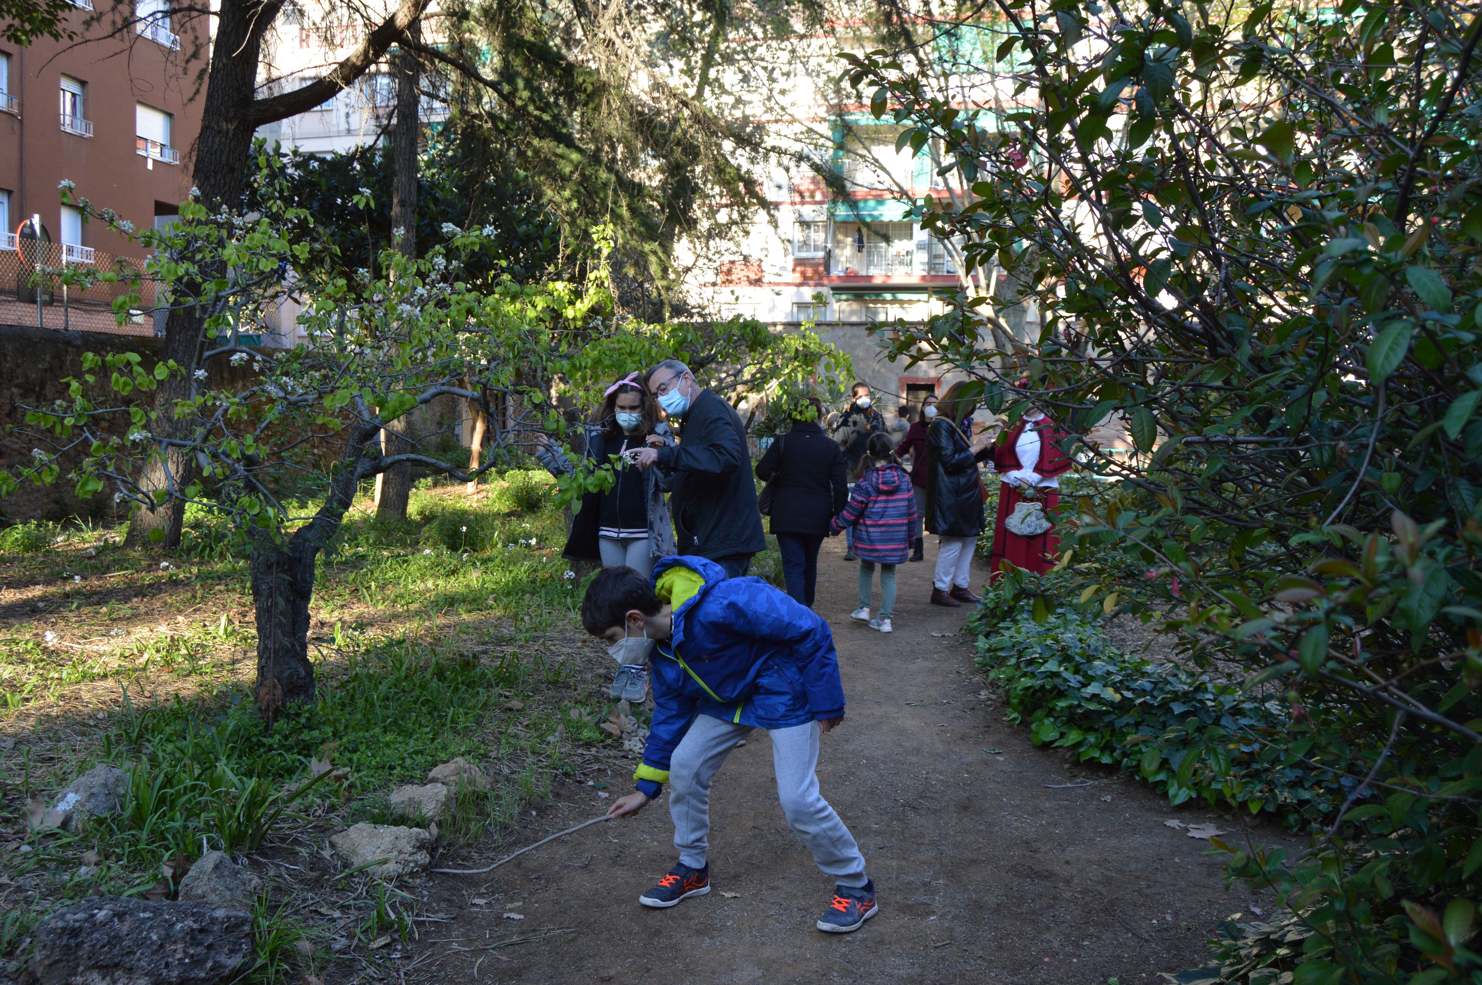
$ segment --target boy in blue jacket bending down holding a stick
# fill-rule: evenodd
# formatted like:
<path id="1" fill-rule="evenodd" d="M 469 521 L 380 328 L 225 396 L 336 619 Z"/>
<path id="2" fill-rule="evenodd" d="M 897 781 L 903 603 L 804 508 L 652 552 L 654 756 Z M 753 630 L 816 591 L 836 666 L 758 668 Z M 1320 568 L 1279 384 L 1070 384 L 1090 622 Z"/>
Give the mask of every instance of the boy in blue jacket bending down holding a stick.
<path id="1" fill-rule="evenodd" d="M 766 729 L 787 824 L 837 883 L 818 929 L 858 930 L 879 911 L 860 846 L 814 772 L 818 736 L 843 721 L 827 622 L 760 578 L 728 579 L 702 557 L 665 557 L 652 581 L 631 567 L 603 569 L 587 588 L 581 621 L 619 661 L 646 656 L 651 665 L 654 721 L 633 775 L 637 792 L 608 813 L 631 818 L 668 784 L 679 864 L 640 904 L 673 906 L 710 892 L 710 782 L 740 739 Z"/>

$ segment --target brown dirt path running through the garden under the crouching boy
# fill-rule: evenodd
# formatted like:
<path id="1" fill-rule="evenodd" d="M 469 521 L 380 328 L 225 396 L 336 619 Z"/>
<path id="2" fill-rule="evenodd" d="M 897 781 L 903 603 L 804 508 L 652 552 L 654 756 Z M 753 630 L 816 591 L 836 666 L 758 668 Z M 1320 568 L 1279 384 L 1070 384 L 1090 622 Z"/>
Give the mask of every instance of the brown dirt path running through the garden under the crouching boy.
<path id="1" fill-rule="evenodd" d="M 1074 776 L 1061 754 L 1005 724 L 980 699 L 956 635 L 966 607 L 926 604 L 932 544 L 926 563 L 900 566 L 892 635 L 849 621 L 857 566 L 842 551 L 842 539 L 824 545 L 818 612 L 834 627 L 849 714 L 824 736 L 818 772 L 876 880 L 874 920 L 854 935 L 814 929 L 831 884 L 787 829 L 769 742 L 754 732 L 716 778 L 708 896 L 667 911 L 637 904 L 674 861 L 661 800 L 492 877 L 431 877 L 428 905 L 453 920 L 431 924 L 436 933 L 421 924 L 422 960 L 406 981 L 1132 985 L 1199 964 L 1208 930 L 1251 905 L 1223 890 L 1205 843 L 1163 825 L 1209 815 L 1171 810 L 1126 779 Z M 612 794 L 631 787 L 618 775 L 609 784 Z M 568 787 L 508 844 L 608 803 Z M 571 930 L 482 949 L 557 927 Z"/>

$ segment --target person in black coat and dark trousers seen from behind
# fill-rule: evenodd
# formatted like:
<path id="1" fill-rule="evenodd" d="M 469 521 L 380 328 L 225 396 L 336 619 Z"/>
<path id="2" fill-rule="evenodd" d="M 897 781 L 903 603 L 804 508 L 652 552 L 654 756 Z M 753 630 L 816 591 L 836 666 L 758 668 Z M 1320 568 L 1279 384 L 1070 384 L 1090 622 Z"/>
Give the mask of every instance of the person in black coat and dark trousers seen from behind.
<path id="1" fill-rule="evenodd" d="M 809 409 L 812 421 L 796 416 Z M 828 521 L 848 502 L 849 486 L 839 443 L 818 427 L 823 401 L 808 397 L 793 413 L 793 430 L 772 440 L 756 464 L 756 477 L 772 483 L 771 526 L 782 552 L 787 594 L 812 609 L 818 548 L 828 536 Z"/>

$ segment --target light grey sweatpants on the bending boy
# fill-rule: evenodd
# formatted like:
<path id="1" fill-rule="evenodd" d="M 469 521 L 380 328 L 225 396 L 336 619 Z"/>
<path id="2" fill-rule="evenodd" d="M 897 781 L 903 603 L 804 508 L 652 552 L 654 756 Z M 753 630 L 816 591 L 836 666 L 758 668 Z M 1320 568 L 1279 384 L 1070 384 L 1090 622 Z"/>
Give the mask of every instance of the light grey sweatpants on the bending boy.
<path id="1" fill-rule="evenodd" d="M 668 815 L 674 819 L 674 847 L 679 861 L 704 868 L 710 843 L 710 781 L 751 726 L 698 715 L 679 741 L 668 764 Z M 843 821 L 818 792 L 818 724 L 809 721 L 791 729 L 768 729 L 772 736 L 772 769 L 777 772 L 777 797 L 793 834 L 814 853 L 825 875 L 843 886 L 860 887 L 864 856 Z"/>

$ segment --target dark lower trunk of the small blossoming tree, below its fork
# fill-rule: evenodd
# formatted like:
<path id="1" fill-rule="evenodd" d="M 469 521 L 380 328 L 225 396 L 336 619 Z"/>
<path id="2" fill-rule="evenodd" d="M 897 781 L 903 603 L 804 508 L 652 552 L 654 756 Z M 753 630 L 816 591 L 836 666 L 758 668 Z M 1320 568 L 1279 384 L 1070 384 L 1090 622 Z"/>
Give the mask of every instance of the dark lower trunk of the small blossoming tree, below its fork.
<path id="1" fill-rule="evenodd" d="M 308 603 L 314 595 L 314 555 L 319 548 L 295 541 L 283 548 L 259 536 L 252 545 L 252 606 L 258 624 L 256 699 L 270 727 L 285 705 L 314 699 Z"/>

